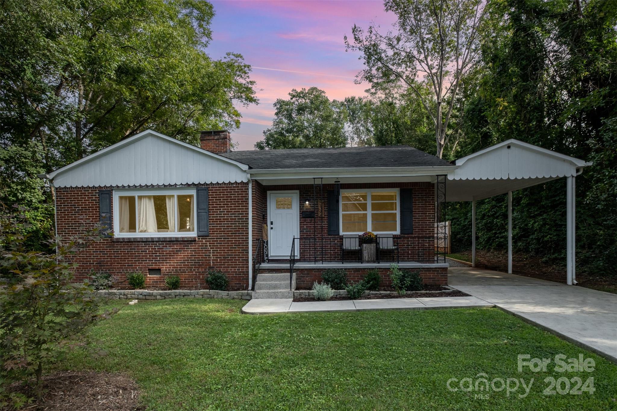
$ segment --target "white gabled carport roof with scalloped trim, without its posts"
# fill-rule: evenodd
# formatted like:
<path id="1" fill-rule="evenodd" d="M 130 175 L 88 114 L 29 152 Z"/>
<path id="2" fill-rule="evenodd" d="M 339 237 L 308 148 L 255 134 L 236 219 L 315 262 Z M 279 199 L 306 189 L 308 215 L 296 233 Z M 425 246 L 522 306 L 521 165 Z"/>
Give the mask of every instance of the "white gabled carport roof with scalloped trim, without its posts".
<path id="1" fill-rule="evenodd" d="M 536 145 L 510 139 L 456 161 L 448 173 L 447 201 L 471 201 L 576 176 L 590 165 Z"/>

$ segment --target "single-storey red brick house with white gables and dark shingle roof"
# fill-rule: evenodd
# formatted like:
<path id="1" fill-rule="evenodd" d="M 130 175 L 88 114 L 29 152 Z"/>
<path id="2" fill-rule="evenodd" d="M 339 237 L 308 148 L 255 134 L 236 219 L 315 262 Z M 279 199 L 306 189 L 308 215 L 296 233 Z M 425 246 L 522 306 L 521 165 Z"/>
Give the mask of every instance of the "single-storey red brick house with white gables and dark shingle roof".
<path id="1" fill-rule="evenodd" d="M 254 290 L 258 272 L 310 288 L 340 267 L 350 281 L 378 269 L 389 285 L 398 262 L 446 284 L 445 201 L 475 203 L 562 176 L 571 184 L 586 165 L 517 140 L 456 163 L 402 145 L 231 151 L 230 142 L 225 130 L 202 132 L 201 147 L 147 130 L 44 176 L 56 192 L 57 235 L 97 222 L 112 232 L 80 254 L 78 278 L 140 271 L 146 287 L 178 275 L 182 288 L 207 288 L 207 271 L 219 269 L 230 290 Z M 545 155 L 552 171 L 497 176 L 500 166 L 529 168 L 527 152 Z M 491 160 L 515 154 L 518 165 Z M 378 238 L 363 244 L 365 231 Z"/>

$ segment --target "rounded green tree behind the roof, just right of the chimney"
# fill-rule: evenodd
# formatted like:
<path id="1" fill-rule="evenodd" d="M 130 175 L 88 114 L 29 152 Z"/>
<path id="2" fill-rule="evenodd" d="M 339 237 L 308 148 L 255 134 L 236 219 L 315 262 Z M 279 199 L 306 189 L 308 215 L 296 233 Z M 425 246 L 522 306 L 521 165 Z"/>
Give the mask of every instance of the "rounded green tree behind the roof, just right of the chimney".
<path id="1" fill-rule="evenodd" d="M 293 89 L 289 100 L 276 99 L 272 126 L 263 131 L 258 150 L 345 147 L 346 109 L 317 87 Z"/>

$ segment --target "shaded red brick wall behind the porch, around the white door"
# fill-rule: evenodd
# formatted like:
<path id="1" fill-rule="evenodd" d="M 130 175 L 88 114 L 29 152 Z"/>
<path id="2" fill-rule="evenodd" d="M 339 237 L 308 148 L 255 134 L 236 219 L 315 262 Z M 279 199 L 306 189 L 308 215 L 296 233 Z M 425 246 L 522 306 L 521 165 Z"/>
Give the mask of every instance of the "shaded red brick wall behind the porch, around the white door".
<path id="1" fill-rule="evenodd" d="M 262 224 L 265 218 L 262 214 L 267 213 L 267 192 L 283 190 L 299 190 L 300 193 L 300 260 L 313 261 L 317 253 L 317 259 L 321 260 L 321 239 L 325 250 L 326 261 L 341 260 L 341 237 L 328 235 L 328 190 L 334 190 L 333 184 L 323 185 L 323 195 L 320 196 L 318 189 L 313 198 L 312 184 L 297 185 L 267 185 L 254 182 L 253 208 L 254 212 L 254 242 L 262 237 Z M 435 198 L 434 184 L 431 182 L 392 182 L 392 183 L 354 183 L 341 184 L 341 189 L 400 189 L 410 188 L 413 190 L 413 234 L 398 235 L 397 241 L 400 248 L 401 261 L 433 261 L 434 258 L 434 221 L 435 221 Z M 312 210 L 316 211 L 317 219 L 302 218 L 304 200 L 309 198 Z M 321 200 L 323 213 L 318 213 L 318 201 Z M 259 221 L 258 221 L 259 220 Z M 323 222 L 323 225 L 322 225 Z M 259 227 L 257 226 L 259 224 Z M 313 248 L 312 238 L 317 237 L 317 244 Z M 346 253 L 346 260 L 356 260 L 357 253 Z M 384 253 L 384 259 L 391 259 L 391 253 Z"/>

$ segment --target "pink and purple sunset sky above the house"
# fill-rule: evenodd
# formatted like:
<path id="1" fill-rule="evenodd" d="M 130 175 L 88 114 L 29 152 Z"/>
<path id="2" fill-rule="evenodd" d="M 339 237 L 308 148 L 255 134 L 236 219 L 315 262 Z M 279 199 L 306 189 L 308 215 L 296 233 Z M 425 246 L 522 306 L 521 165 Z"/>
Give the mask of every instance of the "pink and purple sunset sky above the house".
<path id="1" fill-rule="evenodd" d="M 259 105 L 241 108 L 242 125 L 232 131 L 239 150 L 252 150 L 274 116 L 273 102 L 291 89 L 316 86 L 329 99 L 362 96 L 366 84 L 354 84 L 362 69 L 357 52 L 346 52 L 344 35 L 355 24 L 375 21 L 391 26 L 381 1 L 212 1 L 215 17 L 213 58 L 238 52 L 251 64 Z"/>

